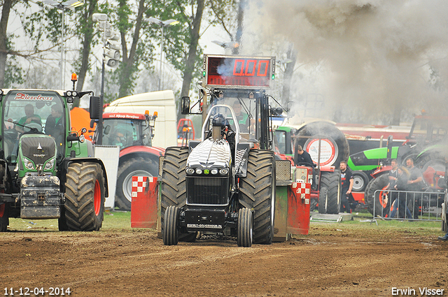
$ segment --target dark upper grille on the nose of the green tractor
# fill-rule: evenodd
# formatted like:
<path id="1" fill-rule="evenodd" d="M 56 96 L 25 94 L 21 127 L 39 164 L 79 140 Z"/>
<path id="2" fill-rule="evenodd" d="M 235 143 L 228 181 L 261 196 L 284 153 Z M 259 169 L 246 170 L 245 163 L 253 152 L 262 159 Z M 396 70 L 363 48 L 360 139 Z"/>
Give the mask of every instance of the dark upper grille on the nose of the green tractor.
<path id="1" fill-rule="evenodd" d="M 44 164 L 48 159 L 55 157 L 56 143 L 50 136 L 22 137 L 20 139 L 22 154 L 34 164 Z"/>

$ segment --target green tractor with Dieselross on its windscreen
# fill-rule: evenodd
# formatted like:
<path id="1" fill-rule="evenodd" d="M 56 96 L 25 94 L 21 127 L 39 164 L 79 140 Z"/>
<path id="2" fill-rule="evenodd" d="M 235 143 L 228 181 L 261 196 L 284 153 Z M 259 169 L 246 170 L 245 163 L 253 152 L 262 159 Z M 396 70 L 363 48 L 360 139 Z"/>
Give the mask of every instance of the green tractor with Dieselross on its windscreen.
<path id="1" fill-rule="evenodd" d="M 71 131 L 71 103 L 93 92 L 0 89 L 0 231 L 10 217 L 59 219 L 60 231 L 98 231 L 108 196 L 104 164 L 81 131 Z"/>

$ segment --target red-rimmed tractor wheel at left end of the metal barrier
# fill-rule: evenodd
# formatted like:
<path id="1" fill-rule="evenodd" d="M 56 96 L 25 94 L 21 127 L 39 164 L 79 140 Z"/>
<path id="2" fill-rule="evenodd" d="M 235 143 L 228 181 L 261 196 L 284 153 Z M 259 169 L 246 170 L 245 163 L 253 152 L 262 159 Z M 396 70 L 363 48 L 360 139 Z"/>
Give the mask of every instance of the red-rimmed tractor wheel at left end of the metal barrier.
<path id="1" fill-rule="evenodd" d="M 388 198 L 386 202 L 384 191 L 377 191 L 385 189 L 388 183 L 388 174 L 383 174 L 378 178 L 374 178 L 369 182 L 369 184 L 367 184 L 367 188 L 365 190 L 365 202 L 367 203 L 367 210 L 369 210 L 369 212 L 374 216 L 379 215 L 385 217 L 388 215 L 391 208 L 391 201 Z"/>

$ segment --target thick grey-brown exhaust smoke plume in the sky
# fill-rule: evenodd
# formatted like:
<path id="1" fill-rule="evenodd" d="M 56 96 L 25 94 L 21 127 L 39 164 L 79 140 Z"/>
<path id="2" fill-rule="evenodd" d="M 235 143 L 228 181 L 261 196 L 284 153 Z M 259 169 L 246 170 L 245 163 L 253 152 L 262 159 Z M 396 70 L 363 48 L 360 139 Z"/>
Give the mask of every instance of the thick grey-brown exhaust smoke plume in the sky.
<path id="1" fill-rule="evenodd" d="M 258 36 L 265 48 L 269 41 L 284 48 L 293 43 L 296 108 L 313 93 L 325 97 L 321 117 L 337 122 L 391 124 L 394 113 L 409 120 L 423 108 L 448 110 L 446 1 L 258 0 L 249 6 L 245 34 L 253 33 L 246 36 Z M 244 38 L 241 54 L 257 47 Z M 264 53 L 272 55 L 272 48 Z"/>

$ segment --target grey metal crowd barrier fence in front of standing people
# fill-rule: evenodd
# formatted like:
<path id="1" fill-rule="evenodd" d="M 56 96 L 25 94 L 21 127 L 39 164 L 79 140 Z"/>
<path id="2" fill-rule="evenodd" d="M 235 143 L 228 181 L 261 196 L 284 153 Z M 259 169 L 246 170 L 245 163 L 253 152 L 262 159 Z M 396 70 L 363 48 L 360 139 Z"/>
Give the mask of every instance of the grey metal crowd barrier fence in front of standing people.
<path id="1" fill-rule="evenodd" d="M 438 191 L 379 189 L 374 192 L 373 217 L 440 221 L 444 196 Z"/>

